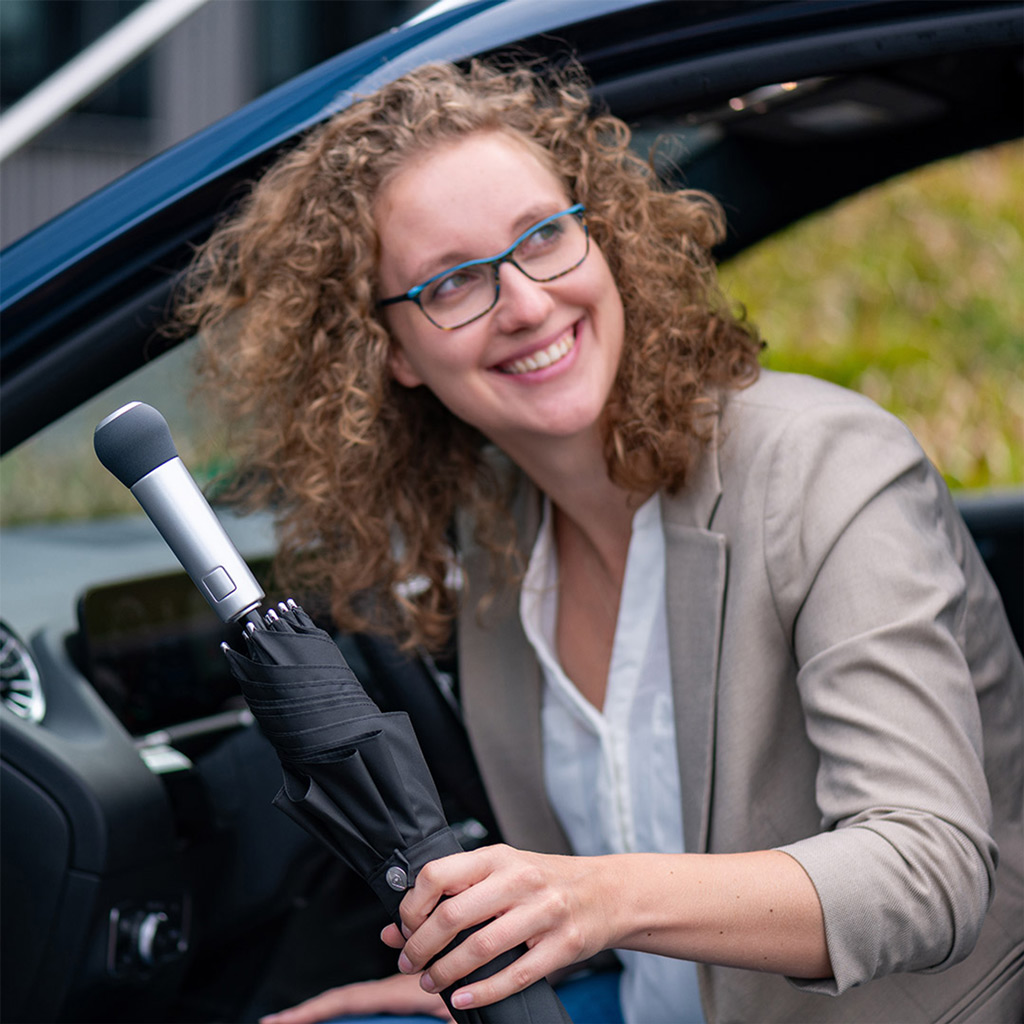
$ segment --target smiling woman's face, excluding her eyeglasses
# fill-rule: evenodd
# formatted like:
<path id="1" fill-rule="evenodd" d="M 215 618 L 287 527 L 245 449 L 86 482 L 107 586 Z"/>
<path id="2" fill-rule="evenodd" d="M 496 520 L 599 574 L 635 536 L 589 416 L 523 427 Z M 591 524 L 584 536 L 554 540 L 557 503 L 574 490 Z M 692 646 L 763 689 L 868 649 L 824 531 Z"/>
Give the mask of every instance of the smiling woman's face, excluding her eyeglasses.
<path id="1" fill-rule="evenodd" d="M 501 253 L 570 204 L 561 180 L 510 135 L 481 132 L 429 152 L 378 199 L 381 294 Z M 596 429 L 622 354 L 623 304 L 593 240 L 583 263 L 554 281 L 531 281 L 509 263 L 499 275 L 494 308 L 452 331 L 413 302 L 388 306 L 391 369 L 517 458 Z"/>

